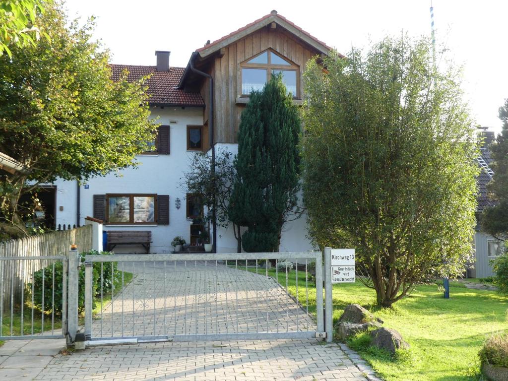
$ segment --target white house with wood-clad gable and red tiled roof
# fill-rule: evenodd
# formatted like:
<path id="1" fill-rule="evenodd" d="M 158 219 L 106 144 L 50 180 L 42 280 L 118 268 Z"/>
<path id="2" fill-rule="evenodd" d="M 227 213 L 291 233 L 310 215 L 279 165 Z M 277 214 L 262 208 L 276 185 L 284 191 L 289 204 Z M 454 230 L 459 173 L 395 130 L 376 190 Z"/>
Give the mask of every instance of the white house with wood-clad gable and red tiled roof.
<path id="1" fill-rule="evenodd" d="M 56 224 L 82 225 L 90 215 L 103 219 L 106 230 L 151 230 L 151 251 L 157 253 L 169 252 L 175 236 L 196 242 L 205 228 L 193 221 L 201 210 L 199 197 L 185 194 L 181 178 L 192 155 L 210 150 L 210 124 L 215 149 L 237 153 L 240 114 L 251 89 L 261 89 L 273 73 L 281 73 L 294 103 L 300 105 L 307 60 L 329 51 L 325 43 L 272 11 L 197 49 L 186 68 L 171 67 L 168 51 L 155 52 L 155 66 L 112 65 L 113 79 L 123 70 L 133 81 L 152 75 L 148 80 L 151 118 L 162 124 L 152 143 L 156 150 L 138 155 L 137 169 L 93 178 L 80 186 L 55 182 Z M 213 101 L 210 79 L 202 74 L 213 80 Z M 312 249 L 306 234 L 305 216 L 285 224 L 280 251 Z M 126 251 L 143 252 L 143 248 Z M 217 229 L 217 251 L 236 251 L 231 227 Z"/>

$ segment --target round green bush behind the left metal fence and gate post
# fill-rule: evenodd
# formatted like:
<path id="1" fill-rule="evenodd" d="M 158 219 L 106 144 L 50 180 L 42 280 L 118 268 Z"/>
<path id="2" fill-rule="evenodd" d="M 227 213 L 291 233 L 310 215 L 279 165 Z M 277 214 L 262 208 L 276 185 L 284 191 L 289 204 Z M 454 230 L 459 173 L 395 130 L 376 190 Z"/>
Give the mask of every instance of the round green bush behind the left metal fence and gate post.
<path id="1" fill-rule="evenodd" d="M 86 255 L 110 255 L 109 251 L 102 251 L 99 253 L 96 250 L 90 250 L 80 253 L 80 261 L 83 262 Z M 111 291 L 113 282 L 120 279 L 120 271 L 117 270 L 117 263 L 113 262 L 112 265 L 103 266 L 102 271 L 102 291 L 103 294 Z M 81 266 L 78 272 L 79 277 L 79 293 L 78 293 L 78 311 L 81 313 L 85 309 L 85 267 Z M 44 282 L 43 282 L 44 278 Z M 53 282 L 54 278 L 54 282 Z M 34 307 L 39 311 L 45 313 L 54 312 L 55 315 L 61 316 L 62 312 L 62 279 L 63 279 L 63 266 L 61 262 L 54 265 L 46 266 L 34 273 Z M 44 283 L 44 287 L 43 287 Z M 54 284 L 54 289 L 53 289 Z M 92 285 L 93 296 L 100 296 L 101 294 L 101 266 L 99 264 L 93 266 L 92 272 Z M 43 290 L 44 290 L 44 305 L 43 305 Z M 54 310 L 53 310 L 53 291 L 54 291 Z M 32 300 L 32 283 L 27 283 L 26 292 L 27 302 L 31 303 Z M 94 298 L 93 306 L 95 307 L 96 298 Z"/>

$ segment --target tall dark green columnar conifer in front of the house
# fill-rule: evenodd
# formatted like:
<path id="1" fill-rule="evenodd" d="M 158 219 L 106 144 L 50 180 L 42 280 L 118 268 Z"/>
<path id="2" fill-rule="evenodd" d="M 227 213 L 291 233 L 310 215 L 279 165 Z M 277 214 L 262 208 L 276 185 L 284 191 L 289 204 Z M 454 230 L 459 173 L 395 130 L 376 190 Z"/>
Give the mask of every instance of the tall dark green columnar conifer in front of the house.
<path id="1" fill-rule="evenodd" d="M 229 206 L 233 223 L 248 228 L 242 235 L 246 251 L 278 251 L 282 226 L 301 214 L 296 196 L 300 128 L 298 110 L 279 75 L 250 93 L 240 119 Z"/>

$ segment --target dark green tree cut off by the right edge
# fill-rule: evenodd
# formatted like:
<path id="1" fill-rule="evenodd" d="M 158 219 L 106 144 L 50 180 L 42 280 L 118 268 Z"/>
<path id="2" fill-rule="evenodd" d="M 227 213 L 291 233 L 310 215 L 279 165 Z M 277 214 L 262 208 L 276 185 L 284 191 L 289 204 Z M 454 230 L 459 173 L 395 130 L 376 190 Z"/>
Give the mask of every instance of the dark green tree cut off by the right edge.
<path id="1" fill-rule="evenodd" d="M 499 203 L 484 210 L 482 225 L 489 234 L 505 241 L 508 239 L 508 99 L 499 108 L 499 119 L 503 122 L 503 128 L 489 147 L 494 176 L 488 184 L 492 198 Z"/>

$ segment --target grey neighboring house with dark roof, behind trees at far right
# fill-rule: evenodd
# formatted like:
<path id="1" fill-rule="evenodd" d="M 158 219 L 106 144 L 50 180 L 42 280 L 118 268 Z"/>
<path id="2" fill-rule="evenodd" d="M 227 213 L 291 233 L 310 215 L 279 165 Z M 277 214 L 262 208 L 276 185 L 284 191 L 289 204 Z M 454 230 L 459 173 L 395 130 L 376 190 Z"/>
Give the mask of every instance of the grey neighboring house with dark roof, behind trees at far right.
<path id="1" fill-rule="evenodd" d="M 494 275 L 490 261 L 501 255 L 504 243 L 482 231 L 480 215 L 485 207 L 495 205 L 495 201 L 488 198 L 487 184 L 492 180 L 494 172 L 490 168 L 491 158 L 489 144 L 494 140 L 494 133 L 490 131 L 482 132 L 485 143 L 481 148 L 481 156 L 478 163 L 481 167 L 481 173 L 478 176 L 478 209 L 477 209 L 477 227 L 474 234 L 474 248 L 476 260 L 474 268 L 468 270 L 468 277 L 485 278 Z"/>

